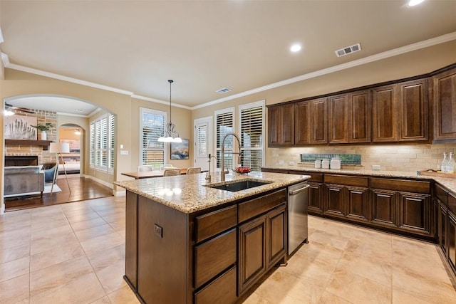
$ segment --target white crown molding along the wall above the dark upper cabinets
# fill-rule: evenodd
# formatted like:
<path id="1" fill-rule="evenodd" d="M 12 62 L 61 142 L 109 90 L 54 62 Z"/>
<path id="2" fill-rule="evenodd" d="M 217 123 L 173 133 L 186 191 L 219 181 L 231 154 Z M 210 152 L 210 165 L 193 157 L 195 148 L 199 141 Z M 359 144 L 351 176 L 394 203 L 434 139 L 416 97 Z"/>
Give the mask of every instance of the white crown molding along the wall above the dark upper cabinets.
<path id="1" fill-rule="evenodd" d="M 347 68 L 353 68 L 353 67 L 356 67 L 358 65 L 363 65 L 363 64 L 366 64 L 366 63 L 374 62 L 374 61 L 380 61 L 380 60 L 385 59 L 385 58 L 398 56 L 398 55 L 401 55 L 403 53 L 416 51 L 416 50 L 419 50 L 421 48 L 427 48 L 429 46 L 435 46 L 437 44 L 445 43 L 445 42 L 452 41 L 452 40 L 456 40 L 456 32 L 447 33 L 447 34 L 442 35 L 442 36 L 438 36 L 438 37 L 435 37 L 435 38 L 427 39 L 425 41 L 412 43 L 412 44 L 409 44 L 408 46 L 403 46 L 403 47 L 400 47 L 400 48 L 394 48 L 393 50 L 385 51 L 383 53 L 378 53 L 378 54 L 375 54 L 375 55 L 372 55 L 372 56 L 361 58 L 361 59 L 358 59 L 356 61 L 350 61 L 348 63 L 343 63 L 343 64 L 340 64 L 340 65 L 334 65 L 334 66 L 332 66 L 330 68 L 323 68 L 323 70 L 316 70 L 315 72 L 311 72 L 311 73 L 307 73 L 307 74 L 304 74 L 304 75 L 296 76 L 294 78 L 289 78 L 289 79 L 286 79 L 286 80 L 281 80 L 281 81 L 279 81 L 277 83 L 271 83 L 270 85 L 264 85 L 262 87 L 255 88 L 253 90 L 248 90 L 248 91 L 245 91 L 245 92 L 242 92 L 242 93 L 238 93 L 238 94 L 227 96 L 225 98 L 219 98 L 219 99 L 216 99 L 216 100 L 212 100 L 212 101 L 209 101 L 208 103 L 203 103 L 201 105 L 195 105 L 195 107 L 192 107 L 192 110 L 197 110 L 199 108 L 204 108 L 204 107 L 207 107 L 208 105 L 216 105 L 217 103 L 224 103 L 227 100 L 233 100 L 233 99 L 241 98 L 241 97 L 244 97 L 244 96 L 247 96 L 247 95 L 252 95 L 252 94 L 255 94 L 255 93 L 263 92 L 265 90 L 271 90 L 273 88 L 278 88 L 278 87 L 281 87 L 283 85 L 289 85 L 291 83 L 297 83 L 297 82 L 302 81 L 302 80 L 316 78 L 318 76 L 334 73 L 334 72 L 337 72 L 339 70 L 346 70 Z"/>

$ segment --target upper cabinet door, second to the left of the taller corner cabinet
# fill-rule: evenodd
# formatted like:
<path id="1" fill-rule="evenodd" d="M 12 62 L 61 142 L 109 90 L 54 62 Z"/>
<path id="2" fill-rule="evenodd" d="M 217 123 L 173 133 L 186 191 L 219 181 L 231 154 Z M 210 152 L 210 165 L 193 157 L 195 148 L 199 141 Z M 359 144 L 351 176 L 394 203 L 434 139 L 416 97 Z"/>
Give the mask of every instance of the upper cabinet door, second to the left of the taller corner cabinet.
<path id="1" fill-rule="evenodd" d="M 373 142 L 398 141 L 398 85 L 372 89 Z"/>

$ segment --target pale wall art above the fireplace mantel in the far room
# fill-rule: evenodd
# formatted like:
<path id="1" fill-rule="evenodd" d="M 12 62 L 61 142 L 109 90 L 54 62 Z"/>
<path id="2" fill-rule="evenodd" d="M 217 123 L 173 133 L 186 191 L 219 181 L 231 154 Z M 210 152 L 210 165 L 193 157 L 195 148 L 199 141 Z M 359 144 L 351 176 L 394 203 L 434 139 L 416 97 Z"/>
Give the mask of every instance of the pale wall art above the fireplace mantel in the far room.
<path id="1" fill-rule="evenodd" d="M 12 115 L 4 117 L 4 138 L 6 140 L 36 140 L 37 119 L 33 116 Z"/>

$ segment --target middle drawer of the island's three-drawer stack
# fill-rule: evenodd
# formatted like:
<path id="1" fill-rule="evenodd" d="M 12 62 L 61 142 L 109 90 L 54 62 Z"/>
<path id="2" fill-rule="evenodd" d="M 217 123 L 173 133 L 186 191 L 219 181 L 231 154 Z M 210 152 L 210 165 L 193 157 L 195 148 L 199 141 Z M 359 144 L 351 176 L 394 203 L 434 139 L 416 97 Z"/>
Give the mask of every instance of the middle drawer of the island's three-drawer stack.
<path id="1" fill-rule="evenodd" d="M 195 248 L 195 288 L 236 263 L 236 229 Z"/>

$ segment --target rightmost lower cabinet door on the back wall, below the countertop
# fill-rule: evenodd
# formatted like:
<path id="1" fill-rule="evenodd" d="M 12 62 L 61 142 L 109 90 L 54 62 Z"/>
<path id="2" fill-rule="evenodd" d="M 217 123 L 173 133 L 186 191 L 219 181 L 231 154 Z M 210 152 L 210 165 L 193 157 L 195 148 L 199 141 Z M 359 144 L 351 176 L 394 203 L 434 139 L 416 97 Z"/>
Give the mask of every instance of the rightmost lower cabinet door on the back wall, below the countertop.
<path id="1" fill-rule="evenodd" d="M 429 195 L 399 192 L 399 227 L 430 234 Z"/>

